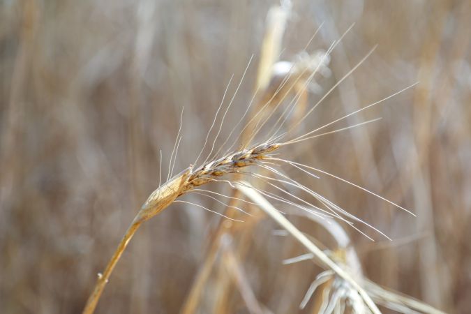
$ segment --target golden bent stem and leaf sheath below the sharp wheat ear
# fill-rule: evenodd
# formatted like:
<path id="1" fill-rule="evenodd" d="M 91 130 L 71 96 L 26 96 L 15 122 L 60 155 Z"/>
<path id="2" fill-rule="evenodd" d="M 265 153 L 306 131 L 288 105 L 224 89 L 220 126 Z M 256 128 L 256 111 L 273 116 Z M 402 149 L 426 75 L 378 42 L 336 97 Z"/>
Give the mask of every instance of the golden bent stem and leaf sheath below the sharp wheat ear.
<path id="1" fill-rule="evenodd" d="M 105 271 L 103 274 L 98 274 L 98 280 L 96 281 L 94 291 L 91 292 L 87 304 L 85 305 L 84 311 L 82 314 L 92 314 L 95 311 L 98 300 L 105 289 L 106 284 L 110 275 L 118 263 L 121 255 L 123 255 L 124 250 L 129 244 L 130 239 L 133 238 L 135 232 L 140 227 L 144 221 L 149 220 L 150 218 L 159 214 L 160 211 L 167 208 L 172 202 L 181 195 L 182 190 L 186 183 L 188 183 L 188 176 L 191 172 L 191 167 L 184 170 L 180 174 L 177 174 L 175 177 L 167 181 L 163 186 L 154 190 L 154 192 L 149 196 L 147 201 L 142 205 L 140 211 L 135 216 L 133 222 L 126 230 L 124 237 L 119 242 L 118 248 L 114 251 L 110 262 L 108 262 Z"/>

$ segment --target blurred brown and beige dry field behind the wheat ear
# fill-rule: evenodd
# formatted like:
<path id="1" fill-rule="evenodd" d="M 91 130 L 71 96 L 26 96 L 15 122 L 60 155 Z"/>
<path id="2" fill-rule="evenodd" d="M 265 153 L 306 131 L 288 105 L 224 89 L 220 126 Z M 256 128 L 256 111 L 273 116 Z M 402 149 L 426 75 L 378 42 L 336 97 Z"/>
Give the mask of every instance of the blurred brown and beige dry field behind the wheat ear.
<path id="1" fill-rule="evenodd" d="M 193 163 L 230 76 L 228 98 L 255 54 L 220 138 L 240 121 L 275 4 L 0 2 L 1 313 L 82 311 L 96 274 L 158 186 L 160 149 L 167 177 L 182 107 L 174 172 Z M 293 1 L 281 59 L 296 59 L 321 24 L 308 53 L 327 50 L 352 23 L 331 53 L 331 75 L 317 80 L 320 94 L 311 93 L 309 104 L 377 49 L 301 128 L 419 84 L 339 127 L 381 121 L 301 142 L 292 159 L 365 186 L 417 218 L 327 176 L 290 175 L 394 239 L 368 231 L 372 242 L 344 226 L 364 276 L 443 311 L 465 313 L 471 307 L 471 3 Z M 228 186 L 210 188 L 230 195 Z M 224 210 L 202 195 L 186 200 Z M 288 218 L 306 234 L 320 228 Z M 176 203 L 145 223 L 112 274 L 98 313 L 179 313 L 219 222 L 220 216 Z M 309 261 L 283 265 L 305 251 L 274 234 L 277 228 L 264 218 L 244 234 L 250 243 L 240 258 L 246 284 L 267 311 L 310 313 L 309 306 L 298 307 L 320 269 Z M 327 235 L 317 233 L 327 245 Z M 196 313 L 248 313 L 240 287 L 218 290 L 229 272 L 214 267 Z"/>

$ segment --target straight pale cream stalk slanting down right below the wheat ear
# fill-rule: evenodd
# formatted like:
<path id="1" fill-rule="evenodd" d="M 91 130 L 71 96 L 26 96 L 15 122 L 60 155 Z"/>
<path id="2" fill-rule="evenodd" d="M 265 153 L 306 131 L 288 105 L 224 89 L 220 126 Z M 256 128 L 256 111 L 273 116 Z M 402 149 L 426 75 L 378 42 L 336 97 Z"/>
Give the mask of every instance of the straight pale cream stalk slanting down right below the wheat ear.
<path id="1" fill-rule="evenodd" d="M 354 279 L 347 274 L 341 267 L 339 267 L 334 261 L 332 261 L 324 252 L 317 248 L 312 241 L 310 241 L 302 232 L 300 232 L 297 227 L 294 227 L 289 220 L 285 218 L 278 210 L 276 210 L 270 202 L 268 202 L 260 193 L 255 190 L 248 182 L 240 182 L 235 184 L 239 190 L 241 190 L 244 195 L 246 195 L 249 199 L 253 202 L 257 203 L 260 208 L 265 211 L 271 218 L 276 220 L 276 222 L 281 225 L 281 227 L 285 228 L 287 232 L 297 239 L 301 244 L 303 244 L 308 251 L 313 253 L 317 260 L 320 260 L 324 266 L 329 267 L 329 269 L 336 272 L 338 276 L 343 278 L 347 283 L 350 283 L 354 289 L 360 294 L 361 298 L 364 300 L 365 304 L 370 308 L 373 313 L 381 313 L 380 310 L 377 308 L 371 297 L 368 296 L 366 291 L 356 282 Z"/>

